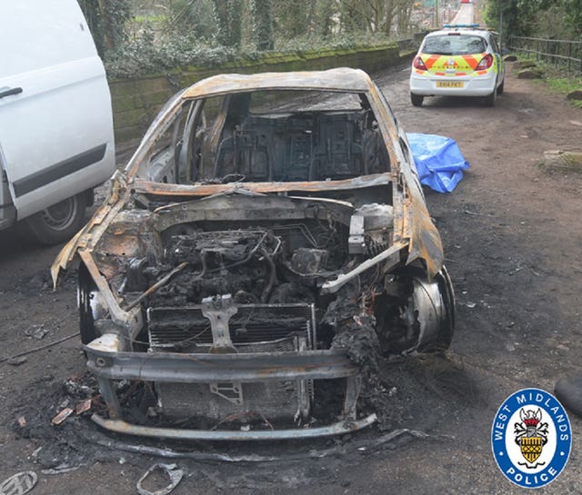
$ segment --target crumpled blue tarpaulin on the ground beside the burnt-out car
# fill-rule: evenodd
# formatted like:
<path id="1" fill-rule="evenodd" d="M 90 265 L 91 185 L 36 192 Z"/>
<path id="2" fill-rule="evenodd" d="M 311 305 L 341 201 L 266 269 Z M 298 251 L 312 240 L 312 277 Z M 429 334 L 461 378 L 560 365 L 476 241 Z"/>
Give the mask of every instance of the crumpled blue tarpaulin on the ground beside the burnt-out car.
<path id="1" fill-rule="evenodd" d="M 450 193 L 463 178 L 469 163 L 454 139 L 435 134 L 406 134 L 416 170 L 423 183 L 437 191 Z"/>

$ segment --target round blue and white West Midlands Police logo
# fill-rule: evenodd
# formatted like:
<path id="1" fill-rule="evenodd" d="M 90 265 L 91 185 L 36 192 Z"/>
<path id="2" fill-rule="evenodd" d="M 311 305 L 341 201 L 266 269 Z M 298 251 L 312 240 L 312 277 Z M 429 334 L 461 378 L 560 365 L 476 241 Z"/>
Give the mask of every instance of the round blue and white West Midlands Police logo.
<path id="1" fill-rule="evenodd" d="M 524 389 L 497 411 L 491 430 L 497 466 L 520 487 L 556 480 L 567 463 L 572 431 L 562 404 L 547 391 Z"/>

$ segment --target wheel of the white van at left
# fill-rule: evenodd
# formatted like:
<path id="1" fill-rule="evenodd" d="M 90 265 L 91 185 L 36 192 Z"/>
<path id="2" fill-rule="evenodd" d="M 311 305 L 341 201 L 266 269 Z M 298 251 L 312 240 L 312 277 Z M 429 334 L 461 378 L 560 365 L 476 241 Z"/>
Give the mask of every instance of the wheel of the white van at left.
<path id="1" fill-rule="evenodd" d="M 76 194 L 26 219 L 37 243 L 52 245 L 68 241 L 85 221 L 87 193 Z"/>

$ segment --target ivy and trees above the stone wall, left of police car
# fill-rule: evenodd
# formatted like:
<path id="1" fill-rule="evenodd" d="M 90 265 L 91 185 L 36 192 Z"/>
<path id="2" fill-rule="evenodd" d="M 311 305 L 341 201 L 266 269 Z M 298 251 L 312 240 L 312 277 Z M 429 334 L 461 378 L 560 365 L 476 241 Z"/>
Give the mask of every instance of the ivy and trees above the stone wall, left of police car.
<path id="1" fill-rule="evenodd" d="M 109 77 L 409 36 L 409 0 L 78 0 Z"/>

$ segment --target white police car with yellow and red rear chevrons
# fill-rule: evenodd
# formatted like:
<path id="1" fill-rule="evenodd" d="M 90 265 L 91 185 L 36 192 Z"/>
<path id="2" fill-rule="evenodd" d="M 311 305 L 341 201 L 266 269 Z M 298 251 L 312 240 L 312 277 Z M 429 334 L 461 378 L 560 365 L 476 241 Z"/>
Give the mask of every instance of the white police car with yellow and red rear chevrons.
<path id="1" fill-rule="evenodd" d="M 494 106 L 505 67 L 495 35 L 478 25 L 450 25 L 426 35 L 412 63 L 410 101 L 426 96 L 483 96 Z"/>

